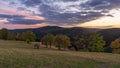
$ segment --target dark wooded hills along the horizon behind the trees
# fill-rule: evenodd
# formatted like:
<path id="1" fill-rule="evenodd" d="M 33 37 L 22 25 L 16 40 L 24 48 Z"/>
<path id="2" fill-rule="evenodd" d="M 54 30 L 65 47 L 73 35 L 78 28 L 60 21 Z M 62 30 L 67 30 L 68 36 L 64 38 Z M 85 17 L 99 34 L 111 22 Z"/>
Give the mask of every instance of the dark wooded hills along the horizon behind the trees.
<path id="1" fill-rule="evenodd" d="M 120 37 L 120 29 L 93 29 L 93 28 L 82 28 L 82 27 L 73 27 L 73 28 L 62 28 L 58 26 L 46 26 L 41 28 L 34 29 L 16 29 L 10 30 L 12 33 L 22 33 L 28 30 L 32 30 L 36 34 L 36 40 L 39 41 L 43 36 L 48 33 L 53 35 L 64 34 L 70 37 L 71 41 L 75 41 L 74 37 L 82 36 L 83 33 L 100 33 L 104 40 L 106 41 L 105 50 L 110 51 L 109 45 L 112 41 Z"/>

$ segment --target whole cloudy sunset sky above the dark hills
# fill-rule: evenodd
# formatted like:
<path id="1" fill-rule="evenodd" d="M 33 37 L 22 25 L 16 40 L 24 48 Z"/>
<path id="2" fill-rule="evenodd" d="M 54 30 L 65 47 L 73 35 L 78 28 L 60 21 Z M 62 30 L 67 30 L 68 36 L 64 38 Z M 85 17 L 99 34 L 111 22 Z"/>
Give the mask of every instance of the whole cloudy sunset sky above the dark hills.
<path id="1" fill-rule="evenodd" d="M 0 0 L 0 29 L 120 28 L 120 0 Z"/>

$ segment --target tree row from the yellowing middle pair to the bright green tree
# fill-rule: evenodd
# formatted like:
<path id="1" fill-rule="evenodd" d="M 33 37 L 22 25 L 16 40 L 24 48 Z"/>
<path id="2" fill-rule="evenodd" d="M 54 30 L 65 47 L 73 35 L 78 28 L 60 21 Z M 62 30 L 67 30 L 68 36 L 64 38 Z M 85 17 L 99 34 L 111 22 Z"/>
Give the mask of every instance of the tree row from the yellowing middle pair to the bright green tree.
<path id="1" fill-rule="evenodd" d="M 52 37 L 52 39 L 50 39 Z M 50 42 L 52 41 L 52 42 Z M 80 51 L 90 51 L 90 52 L 101 52 L 104 51 L 105 41 L 103 37 L 98 33 L 85 33 L 82 36 L 74 37 L 74 41 L 70 40 L 70 37 L 66 35 L 52 35 L 47 34 L 42 38 L 42 43 L 46 47 L 56 46 L 59 50 L 61 48 L 66 49 L 67 47 L 71 48 L 73 45 L 76 47 L 76 50 Z M 73 47 L 73 48 L 75 48 Z"/>

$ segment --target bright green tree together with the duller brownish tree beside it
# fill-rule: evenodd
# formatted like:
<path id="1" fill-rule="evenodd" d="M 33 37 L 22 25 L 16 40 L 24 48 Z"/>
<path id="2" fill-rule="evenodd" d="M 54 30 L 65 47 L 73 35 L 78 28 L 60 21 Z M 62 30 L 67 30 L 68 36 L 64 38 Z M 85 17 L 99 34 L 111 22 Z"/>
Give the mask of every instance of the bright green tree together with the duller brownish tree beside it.
<path id="1" fill-rule="evenodd" d="M 105 41 L 98 33 L 84 34 L 76 41 L 76 45 L 84 51 L 100 52 L 104 50 Z"/>

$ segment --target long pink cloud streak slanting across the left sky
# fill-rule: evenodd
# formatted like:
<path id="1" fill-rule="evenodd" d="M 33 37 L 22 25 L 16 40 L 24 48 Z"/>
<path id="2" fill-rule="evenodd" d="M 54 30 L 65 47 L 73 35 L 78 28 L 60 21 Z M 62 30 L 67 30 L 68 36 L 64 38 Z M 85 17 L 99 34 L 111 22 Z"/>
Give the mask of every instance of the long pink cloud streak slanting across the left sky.
<path id="1" fill-rule="evenodd" d="M 0 8 L 0 12 L 11 14 L 11 15 L 22 15 L 22 16 L 25 16 L 26 19 L 45 20 L 44 17 L 34 16 L 34 15 L 28 14 L 26 12 L 13 11 L 13 10 L 1 9 L 1 8 Z"/>

